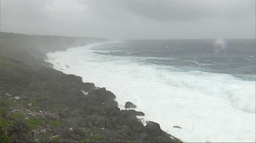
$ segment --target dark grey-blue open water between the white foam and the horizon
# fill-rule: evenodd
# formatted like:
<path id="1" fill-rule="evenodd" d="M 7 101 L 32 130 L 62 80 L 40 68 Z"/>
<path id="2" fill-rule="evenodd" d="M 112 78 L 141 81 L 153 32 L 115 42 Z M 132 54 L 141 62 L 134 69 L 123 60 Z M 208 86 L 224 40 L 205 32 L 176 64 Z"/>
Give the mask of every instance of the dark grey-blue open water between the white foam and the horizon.
<path id="1" fill-rule="evenodd" d="M 98 54 L 132 56 L 144 64 L 178 67 L 172 70 L 224 73 L 255 80 L 255 39 L 134 40 L 95 48 L 110 51 Z"/>

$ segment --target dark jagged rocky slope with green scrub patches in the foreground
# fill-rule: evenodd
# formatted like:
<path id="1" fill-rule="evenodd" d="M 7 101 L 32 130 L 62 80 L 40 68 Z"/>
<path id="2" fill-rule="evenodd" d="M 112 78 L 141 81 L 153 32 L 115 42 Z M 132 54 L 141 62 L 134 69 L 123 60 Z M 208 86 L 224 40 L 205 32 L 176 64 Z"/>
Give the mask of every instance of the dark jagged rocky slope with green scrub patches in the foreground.
<path id="1" fill-rule="evenodd" d="M 136 105 L 127 102 L 127 109 L 120 110 L 112 92 L 79 76 L 42 63 L 30 67 L 2 54 L 0 62 L 1 140 L 182 142 L 158 123 L 144 126 L 136 116 L 145 114 Z"/>

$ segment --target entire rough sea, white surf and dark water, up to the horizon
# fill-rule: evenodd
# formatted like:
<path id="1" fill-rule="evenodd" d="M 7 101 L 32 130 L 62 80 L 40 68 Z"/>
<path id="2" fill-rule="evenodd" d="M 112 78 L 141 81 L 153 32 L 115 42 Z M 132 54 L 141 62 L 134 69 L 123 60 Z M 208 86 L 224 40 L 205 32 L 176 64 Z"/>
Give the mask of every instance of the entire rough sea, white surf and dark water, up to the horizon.
<path id="1" fill-rule="evenodd" d="M 47 53 L 184 142 L 256 142 L 255 39 L 130 40 Z M 180 126 L 182 129 L 174 128 Z"/>

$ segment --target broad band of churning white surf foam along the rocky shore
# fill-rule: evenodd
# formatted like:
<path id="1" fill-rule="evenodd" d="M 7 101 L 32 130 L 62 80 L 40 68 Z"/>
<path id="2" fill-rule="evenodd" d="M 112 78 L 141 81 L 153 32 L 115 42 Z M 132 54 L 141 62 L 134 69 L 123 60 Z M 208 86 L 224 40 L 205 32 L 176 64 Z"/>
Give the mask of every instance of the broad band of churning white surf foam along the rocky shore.
<path id="1" fill-rule="evenodd" d="M 107 46 L 105 43 L 101 46 Z M 106 87 L 119 107 L 127 101 L 161 129 L 185 142 L 255 142 L 255 81 L 229 74 L 173 72 L 133 57 L 94 53 L 93 46 L 48 53 L 57 70 Z M 70 68 L 66 68 L 69 65 Z M 180 126 L 182 129 L 173 128 Z"/>

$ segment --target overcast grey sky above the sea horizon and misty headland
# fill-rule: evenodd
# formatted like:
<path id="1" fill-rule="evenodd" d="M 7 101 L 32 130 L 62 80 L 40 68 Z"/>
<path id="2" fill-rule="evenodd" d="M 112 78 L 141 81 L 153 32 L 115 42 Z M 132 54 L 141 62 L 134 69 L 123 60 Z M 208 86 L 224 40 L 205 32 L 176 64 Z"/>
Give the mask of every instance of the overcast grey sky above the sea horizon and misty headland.
<path id="1" fill-rule="evenodd" d="M 255 38 L 255 0 L 1 0 L 1 31 L 125 39 Z"/>

